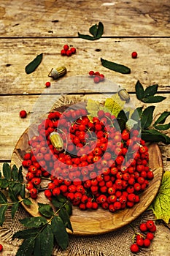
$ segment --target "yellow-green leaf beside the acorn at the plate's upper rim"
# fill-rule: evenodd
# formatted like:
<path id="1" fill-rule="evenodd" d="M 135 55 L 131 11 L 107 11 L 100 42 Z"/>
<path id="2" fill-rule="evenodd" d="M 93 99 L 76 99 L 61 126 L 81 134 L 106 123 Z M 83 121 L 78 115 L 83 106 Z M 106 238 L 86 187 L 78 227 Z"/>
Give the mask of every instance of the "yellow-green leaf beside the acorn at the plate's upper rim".
<path id="1" fill-rule="evenodd" d="M 112 115 L 116 116 L 123 110 L 125 102 L 120 99 L 118 94 L 114 94 L 111 98 L 107 98 L 104 104 L 104 107 L 107 108 Z"/>

